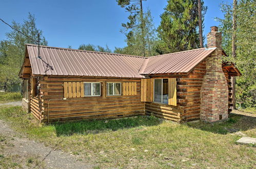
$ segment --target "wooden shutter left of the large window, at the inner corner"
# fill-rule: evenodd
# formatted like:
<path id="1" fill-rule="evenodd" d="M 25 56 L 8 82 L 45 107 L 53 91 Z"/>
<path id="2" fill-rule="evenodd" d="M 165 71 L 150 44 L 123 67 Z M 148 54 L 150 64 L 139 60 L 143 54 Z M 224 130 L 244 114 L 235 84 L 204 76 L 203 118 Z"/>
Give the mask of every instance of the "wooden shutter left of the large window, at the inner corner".
<path id="1" fill-rule="evenodd" d="M 152 81 L 153 79 L 141 79 L 141 101 L 152 102 Z"/>

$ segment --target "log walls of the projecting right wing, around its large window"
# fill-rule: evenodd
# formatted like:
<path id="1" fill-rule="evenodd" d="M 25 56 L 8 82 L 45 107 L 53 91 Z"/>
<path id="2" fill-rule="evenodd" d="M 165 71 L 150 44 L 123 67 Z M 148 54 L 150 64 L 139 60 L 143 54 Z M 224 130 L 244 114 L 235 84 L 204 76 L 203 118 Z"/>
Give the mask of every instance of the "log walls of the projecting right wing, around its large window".
<path id="1" fill-rule="evenodd" d="M 177 105 L 146 102 L 146 114 L 156 117 L 186 122 L 200 119 L 201 87 L 206 72 L 206 62 L 201 62 L 189 74 L 151 76 L 151 78 L 176 78 Z"/>

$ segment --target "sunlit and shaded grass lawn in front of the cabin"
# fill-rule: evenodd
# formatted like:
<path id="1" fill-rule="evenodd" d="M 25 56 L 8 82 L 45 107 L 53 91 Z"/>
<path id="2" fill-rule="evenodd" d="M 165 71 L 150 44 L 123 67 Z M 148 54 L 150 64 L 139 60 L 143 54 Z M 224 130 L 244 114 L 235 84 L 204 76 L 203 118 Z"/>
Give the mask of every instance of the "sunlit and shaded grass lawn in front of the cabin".
<path id="1" fill-rule="evenodd" d="M 255 147 L 236 144 L 238 129 L 256 137 L 255 117 L 232 114 L 222 123 L 177 124 L 151 116 L 116 120 L 37 123 L 21 107 L 0 108 L 19 132 L 79 156 L 96 168 L 253 168 Z"/>

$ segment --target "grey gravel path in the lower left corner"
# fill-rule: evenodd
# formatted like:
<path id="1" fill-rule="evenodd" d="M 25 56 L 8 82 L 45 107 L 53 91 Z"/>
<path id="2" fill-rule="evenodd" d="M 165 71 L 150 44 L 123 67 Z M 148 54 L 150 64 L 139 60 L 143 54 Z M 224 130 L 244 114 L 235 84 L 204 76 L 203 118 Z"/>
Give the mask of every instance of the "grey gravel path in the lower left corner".
<path id="1" fill-rule="evenodd" d="M 0 154 L 9 157 L 22 158 L 19 161 L 23 168 L 34 168 L 35 166 L 27 165 L 28 158 L 33 157 L 37 160 L 35 168 L 92 168 L 93 166 L 84 162 L 78 161 L 77 156 L 69 155 L 59 150 L 54 150 L 51 147 L 45 146 L 42 143 L 30 140 L 25 136 L 13 131 L 6 122 L 0 120 L 0 136 L 6 141 L 0 142 L 3 149 Z M 5 143 L 4 143 L 5 142 Z M 9 145 L 9 146 L 8 146 Z M 3 151 L 3 152 L 2 152 Z M 38 164 L 39 161 L 39 164 Z"/>

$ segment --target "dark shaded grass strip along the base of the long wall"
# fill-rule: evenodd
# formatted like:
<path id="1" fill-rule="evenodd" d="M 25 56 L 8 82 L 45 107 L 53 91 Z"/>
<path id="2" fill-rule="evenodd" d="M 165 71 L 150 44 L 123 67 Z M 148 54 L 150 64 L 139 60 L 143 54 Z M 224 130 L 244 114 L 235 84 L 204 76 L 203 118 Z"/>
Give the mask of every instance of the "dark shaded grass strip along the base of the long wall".
<path id="1" fill-rule="evenodd" d="M 153 116 L 136 116 L 111 120 L 81 120 L 68 122 L 54 122 L 57 137 L 74 134 L 96 134 L 119 129 L 152 126 L 162 123 L 163 120 Z"/>

